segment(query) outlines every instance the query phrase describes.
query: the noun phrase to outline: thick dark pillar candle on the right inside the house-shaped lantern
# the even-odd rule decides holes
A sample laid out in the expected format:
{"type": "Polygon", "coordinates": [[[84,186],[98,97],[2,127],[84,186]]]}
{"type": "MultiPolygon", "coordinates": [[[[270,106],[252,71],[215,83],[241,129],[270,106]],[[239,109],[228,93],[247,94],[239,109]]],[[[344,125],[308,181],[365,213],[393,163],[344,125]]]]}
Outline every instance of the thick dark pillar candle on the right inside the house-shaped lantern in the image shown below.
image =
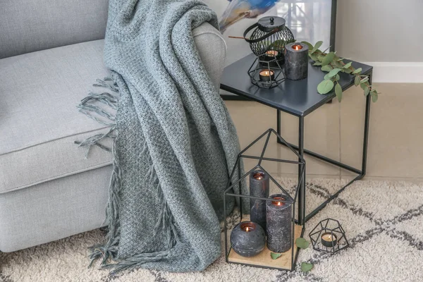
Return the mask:
{"type": "MultiPolygon", "coordinates": [[[[286,195],[271,195],[274,200],[286,200],[286,195]]],[[[286,252],[291,247],[293,209],[290,203],[266,201],[267,248],[271,252],[286,252]]]]}

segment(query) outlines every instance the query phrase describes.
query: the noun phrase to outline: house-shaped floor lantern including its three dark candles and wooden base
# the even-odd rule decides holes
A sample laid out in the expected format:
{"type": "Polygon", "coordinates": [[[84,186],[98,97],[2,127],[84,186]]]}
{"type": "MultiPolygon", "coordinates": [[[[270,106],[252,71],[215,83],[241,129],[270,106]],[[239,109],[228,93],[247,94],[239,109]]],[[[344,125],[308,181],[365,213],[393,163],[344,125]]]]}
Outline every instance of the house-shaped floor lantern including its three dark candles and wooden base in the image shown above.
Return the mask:
{"type": "Polygon", "coordinates": [[[228,185],[223,192],[226,262],[293,271],[299,251],[295,240],[302,237],[305,231],[304,219],[300,220],[302,225],[295,219],[295,206],[298,204],[298,191],[304,184],[304,173],[304,159],[273,129],[266,130],[238,154],[228,185]],[[276,135],[277,140],[285,144],[288,153],[298,161],[266,157],[269,142],[274,140],[272,135],[276,135]],[[264,145],[260,145],[261,141],[264,141],[264,145]],[[248,153],[252,147],[257,146],[263,146],[259,147],[259,156],[248,153]],[[257,161],[257,164],[251,164],[251,161],[257,161]],[[245,169],[246,173],[243,170],[244,162],[249,162],[252,166],[248,171],[245,169]],[[269,173],[271,168],[266,169],[275,164],[298,166],[298,178],[289,178],[286,180],[288,182],[275,179],[272,173],[269,173]],[[240,191],[239,194],[233,192],[234,190],[240,191]],[[233,202],[233,199],[228,199],[230,197],[238,200],[240,217],[239,221],[231,220],[231,223],[228,223],[226,205],[233,202]],[[266,235],[264,247],[264,233],[250,233],[255,232],[256,228],[260,232],[264,231],[266,235]],[[249,242],[247,238],[255,239],[249,242]],[[239,250],[239,246],[242,246],[243,250],[239,250]],[[278,258],[274,259],[272,253],[276,253],[278,258]]]}

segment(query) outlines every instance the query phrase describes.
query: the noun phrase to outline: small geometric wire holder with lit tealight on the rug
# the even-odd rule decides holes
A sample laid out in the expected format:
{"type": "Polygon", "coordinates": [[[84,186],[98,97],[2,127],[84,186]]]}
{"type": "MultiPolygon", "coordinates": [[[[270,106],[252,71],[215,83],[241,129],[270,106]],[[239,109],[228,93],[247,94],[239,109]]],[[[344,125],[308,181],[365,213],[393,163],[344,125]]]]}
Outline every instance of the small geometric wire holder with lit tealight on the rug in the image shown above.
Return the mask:
{"type": "Polygon", "coordinates": [[[345,249],[350,244],[345,237],[341,223],[336,219],[324,219],[309,233],[313,249],[319,252],[334,254],[345,249]]]}

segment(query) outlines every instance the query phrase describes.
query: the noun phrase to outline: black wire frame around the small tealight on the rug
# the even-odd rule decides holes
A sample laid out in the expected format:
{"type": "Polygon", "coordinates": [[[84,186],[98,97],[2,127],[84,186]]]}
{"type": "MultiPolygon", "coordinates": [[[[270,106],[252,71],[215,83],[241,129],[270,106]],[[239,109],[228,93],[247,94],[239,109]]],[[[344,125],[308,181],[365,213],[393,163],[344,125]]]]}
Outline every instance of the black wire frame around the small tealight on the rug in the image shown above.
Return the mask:
{"type": "Polygon", "coordinates": [[[345,236],[345,231],[341,226],[341,223],[337,221],[336,219],[324,219],[317,223],[317,226],[315,226],[312,231],[309,233],[310,241],[312,241],[312,246],[314,250],[317,250],[319,252],[329,252],[331,254],[334,254],[336,252],[339,252],[340,250],[343,250],[350,246],[350,243],[348,243],[348,240],[345,236]],[[328,227],[329,222],[335,222],[336,227],[328,227]],[[320,226],[320,228],[319,228],[320,226]],[[317,229],[317,231],[315,231],[317,229]],[[319,243],[319,239],[321,239],[321,233],[330,231],[332,235],[336,235],[336,245],[332,245],[332,247],[326,247],[319,243]]]}

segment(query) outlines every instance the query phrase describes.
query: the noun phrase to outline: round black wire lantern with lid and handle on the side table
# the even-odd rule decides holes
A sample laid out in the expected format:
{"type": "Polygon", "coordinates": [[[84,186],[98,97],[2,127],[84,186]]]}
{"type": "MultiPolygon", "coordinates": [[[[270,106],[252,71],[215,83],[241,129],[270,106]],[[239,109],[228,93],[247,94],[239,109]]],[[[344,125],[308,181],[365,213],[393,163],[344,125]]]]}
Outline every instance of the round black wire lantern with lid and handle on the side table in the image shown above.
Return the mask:
{"type": "Polygon", "coordinates": [[[285,45],[295,42],[293,32],[285,25],[285,19],[277,16],[260,18],[244,32],[245,41],[260,60],[271,61],[271,66],[281,65],[285,59],[285,45]],[[250,37],[247,34],[252,31],[250,37]],[[276,58],[276,61],[274,60],[276,58]]]}

